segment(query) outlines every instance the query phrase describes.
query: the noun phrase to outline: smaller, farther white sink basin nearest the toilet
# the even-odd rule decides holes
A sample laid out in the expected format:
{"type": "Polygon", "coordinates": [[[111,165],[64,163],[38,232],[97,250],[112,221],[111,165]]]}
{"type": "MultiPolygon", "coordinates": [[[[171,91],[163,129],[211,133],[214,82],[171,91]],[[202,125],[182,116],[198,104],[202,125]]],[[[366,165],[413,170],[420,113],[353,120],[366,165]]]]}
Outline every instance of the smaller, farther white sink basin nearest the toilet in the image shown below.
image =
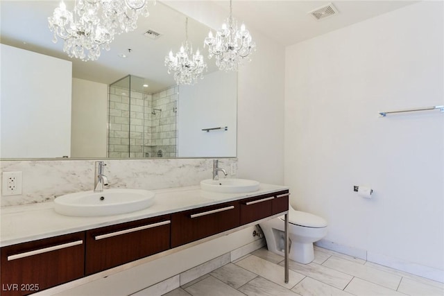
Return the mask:
{"type": "Polygon", "coordinates": [[[246,179],[207,179],[200,181],[200,189],[218,193],[244,193],[259,190],[259,182],[246,179]]]}

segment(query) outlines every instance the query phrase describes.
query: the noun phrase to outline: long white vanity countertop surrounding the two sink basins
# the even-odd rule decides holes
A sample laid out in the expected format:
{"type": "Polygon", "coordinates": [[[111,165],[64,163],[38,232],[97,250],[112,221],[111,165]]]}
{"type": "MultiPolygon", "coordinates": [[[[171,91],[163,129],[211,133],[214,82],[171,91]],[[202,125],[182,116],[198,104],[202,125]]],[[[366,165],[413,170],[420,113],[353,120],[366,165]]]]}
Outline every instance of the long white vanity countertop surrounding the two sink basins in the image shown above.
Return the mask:
{"type": "Polygon", "coordinates": [[[288,189],[287,186],[271,184],[260,184],[258,191],[249,193],[212,193],[200,190],[199,186],[159,189],[153,190],[155,202],[147,209],[100,217],[63,216],[54,211],[53,202],[3,207],[0,217],[0,245],[4,247],[35,241],[288,189]]]}

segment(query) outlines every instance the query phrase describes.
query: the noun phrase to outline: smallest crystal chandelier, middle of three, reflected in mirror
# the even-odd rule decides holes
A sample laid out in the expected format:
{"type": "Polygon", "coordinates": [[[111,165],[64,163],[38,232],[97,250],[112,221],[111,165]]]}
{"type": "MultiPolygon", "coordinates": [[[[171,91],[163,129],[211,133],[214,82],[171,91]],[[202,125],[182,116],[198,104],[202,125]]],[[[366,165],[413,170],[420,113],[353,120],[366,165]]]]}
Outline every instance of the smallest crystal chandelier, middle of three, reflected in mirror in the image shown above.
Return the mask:
{"type": "Polygon", "coordinates": [[[188,18],[185,21],[185,42],[176,55],[173,55],[173,51],[169,52],[165,57],[165,66],[168,67],[169,74],[173,72],[178,85],[194,85],[198,78],[203,79],[203,71],[207,69],[207,64],[199,50],[193,54],[193,46],[188,42],[188,18]]]}

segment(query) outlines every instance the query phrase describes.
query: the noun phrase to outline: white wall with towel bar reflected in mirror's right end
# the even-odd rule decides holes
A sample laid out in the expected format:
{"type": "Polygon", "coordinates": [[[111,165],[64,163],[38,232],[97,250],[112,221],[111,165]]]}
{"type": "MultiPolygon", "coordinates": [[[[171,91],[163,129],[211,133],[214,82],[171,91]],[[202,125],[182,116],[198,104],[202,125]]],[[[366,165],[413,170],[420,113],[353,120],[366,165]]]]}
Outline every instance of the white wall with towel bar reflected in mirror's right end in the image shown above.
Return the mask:
{"type": "Polygon", "coordinates": [[[196,85],[180,86],[179,157],[235,157],[237,73],[216,71],[196,85]],[[203,128],[227,127],[205,132],[203,128]]]}

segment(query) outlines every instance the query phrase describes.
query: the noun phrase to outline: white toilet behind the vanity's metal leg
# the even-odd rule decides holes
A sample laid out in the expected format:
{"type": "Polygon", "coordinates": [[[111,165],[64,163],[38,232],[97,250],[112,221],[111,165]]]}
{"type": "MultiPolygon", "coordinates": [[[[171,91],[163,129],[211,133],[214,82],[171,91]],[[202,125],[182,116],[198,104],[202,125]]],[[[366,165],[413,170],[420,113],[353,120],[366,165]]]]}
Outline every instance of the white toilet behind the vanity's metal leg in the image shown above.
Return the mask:
{"type": "MultiPolygon", "coordinates": [[[[270,252],[284,256],[284,216],[259,223],[270,252]]],[[[313,243],[327,234],[327,221],[289,207],[289,259],[310,263],[314,259],[313,243]]]]}

